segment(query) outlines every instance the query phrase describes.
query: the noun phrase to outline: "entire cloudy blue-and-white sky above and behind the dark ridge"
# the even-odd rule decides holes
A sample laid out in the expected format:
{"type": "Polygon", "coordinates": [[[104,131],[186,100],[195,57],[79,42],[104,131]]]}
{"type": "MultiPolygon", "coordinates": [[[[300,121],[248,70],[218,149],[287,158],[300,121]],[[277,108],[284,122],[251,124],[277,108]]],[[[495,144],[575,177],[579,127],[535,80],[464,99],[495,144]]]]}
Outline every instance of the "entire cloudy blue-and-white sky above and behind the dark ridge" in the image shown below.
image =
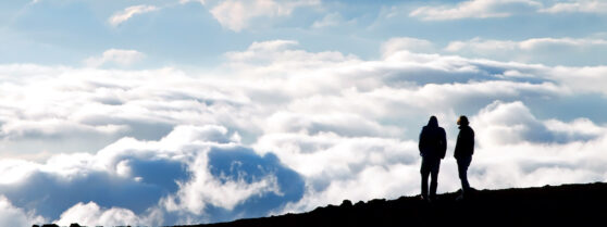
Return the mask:
{"type": "Polygon", "coordinates": [[[226,222],[607,180],[605,0],[0,2],[0,225],[226,222]]]}

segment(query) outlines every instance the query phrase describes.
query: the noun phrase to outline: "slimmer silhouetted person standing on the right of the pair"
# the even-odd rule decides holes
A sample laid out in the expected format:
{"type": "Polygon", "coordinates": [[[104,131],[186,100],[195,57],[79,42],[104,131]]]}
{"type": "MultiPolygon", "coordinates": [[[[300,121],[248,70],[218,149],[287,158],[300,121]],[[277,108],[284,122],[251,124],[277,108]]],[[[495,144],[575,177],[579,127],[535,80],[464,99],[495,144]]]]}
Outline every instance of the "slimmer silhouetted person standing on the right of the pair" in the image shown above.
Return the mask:
{"type": "Polygon", "coordinates": [[[474,130],[469,126],[468,117],[463,115],[459,116],[457,124],[459,125],[459,134],[457,135],[454,156],[457,160],[457,171],[461,180],[462,193],[458,199],[463,199],[467,193],[470,193],[468,167],[472,162],[472,154],[474,154],[474,130]]]}

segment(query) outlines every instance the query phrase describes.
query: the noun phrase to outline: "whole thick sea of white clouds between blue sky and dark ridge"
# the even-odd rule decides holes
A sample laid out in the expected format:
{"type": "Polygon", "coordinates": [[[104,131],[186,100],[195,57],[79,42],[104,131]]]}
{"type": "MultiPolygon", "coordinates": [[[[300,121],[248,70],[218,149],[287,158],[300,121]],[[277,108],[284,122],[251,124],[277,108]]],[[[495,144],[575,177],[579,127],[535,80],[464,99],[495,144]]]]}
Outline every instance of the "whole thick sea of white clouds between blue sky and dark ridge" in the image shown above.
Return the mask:
{"type": "Polygon", "coordinates": [[[589,114],[605,66],[434,47],[395,38],[362,60],[259,41],[207,73],[0,65],[0,210],[18,217],[0,220],[196,224],[413,196],[430,115],[448,135],[442,192],[459,187],[460,114],[476,188],[607,180],[607,118],[589,114]]]}

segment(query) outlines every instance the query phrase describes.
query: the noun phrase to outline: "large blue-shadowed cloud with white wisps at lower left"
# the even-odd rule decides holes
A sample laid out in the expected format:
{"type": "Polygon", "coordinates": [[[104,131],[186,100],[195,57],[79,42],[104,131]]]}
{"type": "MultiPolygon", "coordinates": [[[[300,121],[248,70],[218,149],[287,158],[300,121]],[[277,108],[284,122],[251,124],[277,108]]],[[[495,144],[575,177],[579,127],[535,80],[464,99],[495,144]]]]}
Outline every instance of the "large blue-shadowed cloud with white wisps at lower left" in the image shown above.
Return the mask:
{"type": "MultiPolygon", "coordinates": [[[[250,198],[255,203],[276,194],[286,203],[300,197],[297,173],[230,137],[221,126],[178,126],[158,141],[123,138],[96,154],[59,154],[45,164],[2,160],[0,171],[8,179],[0,194],[18,199],[21,206],[34,205],[60,225],[89,226],[174,225],[166,220],[174,215],[189,224],[219,222],[268,212],[239,207],[250,198]],[[218,212],[221,217],[214,216],[218,212]]],[[[22,212],[4,203],[0,200],[0,209],[10,214],[22,212]]],[[[35,213],[24,214],[30,218],[35,213]]],[[[12,222],[2,215],[0,220],[12,222]]]]}

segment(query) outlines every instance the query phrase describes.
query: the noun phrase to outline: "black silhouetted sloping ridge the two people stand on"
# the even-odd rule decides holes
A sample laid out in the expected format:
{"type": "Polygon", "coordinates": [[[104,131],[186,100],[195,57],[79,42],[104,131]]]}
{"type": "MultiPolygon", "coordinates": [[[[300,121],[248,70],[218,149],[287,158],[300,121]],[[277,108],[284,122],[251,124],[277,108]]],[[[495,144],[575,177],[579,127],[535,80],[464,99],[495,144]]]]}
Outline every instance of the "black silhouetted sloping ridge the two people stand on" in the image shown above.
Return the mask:
{"type": "Polygon", "coordinates": [[[607,184],[544,186],[439,194],[428,203],[419,197],[376,199],[318,207],[308,213],[175,227],[289,226],[605,226],[607,184]]]}

